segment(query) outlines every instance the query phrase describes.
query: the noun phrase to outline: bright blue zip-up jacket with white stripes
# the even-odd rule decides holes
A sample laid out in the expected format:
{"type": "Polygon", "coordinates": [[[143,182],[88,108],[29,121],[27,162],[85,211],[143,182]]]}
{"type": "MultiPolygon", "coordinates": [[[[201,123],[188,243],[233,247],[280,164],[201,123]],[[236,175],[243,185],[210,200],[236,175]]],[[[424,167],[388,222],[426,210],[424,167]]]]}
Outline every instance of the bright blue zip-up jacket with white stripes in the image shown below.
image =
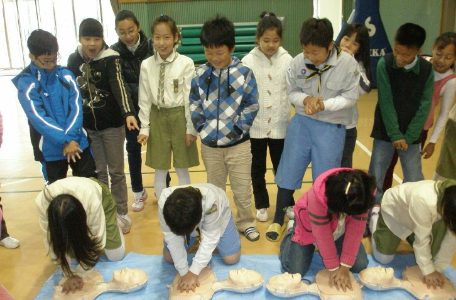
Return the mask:
{"type": "Polygon", "coordinates": [[[40,150],[46,161],[66,159],[64,146],[75,141],[82,150],[89,146],[82,129],[82,98],[73,74],[56,66],[51,72],[31,62],[13,78],[19,102],[40,134],[40,150]]]}

